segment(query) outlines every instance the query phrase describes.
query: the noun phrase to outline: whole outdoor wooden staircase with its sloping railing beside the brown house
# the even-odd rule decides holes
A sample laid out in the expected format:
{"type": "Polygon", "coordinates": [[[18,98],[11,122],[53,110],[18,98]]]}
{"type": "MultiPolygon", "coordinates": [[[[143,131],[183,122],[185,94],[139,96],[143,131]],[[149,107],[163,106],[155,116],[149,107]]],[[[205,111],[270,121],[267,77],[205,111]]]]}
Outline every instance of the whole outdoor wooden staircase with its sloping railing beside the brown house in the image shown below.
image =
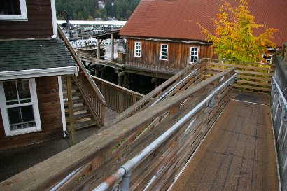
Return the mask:
{"type": "MultiPolygon", "coordinates": [[[[62,39],[64,45],[69,50],[71,57],[77,64],[77,73],[76,75],[68,76],[68,80],[71,79],[71,99],[73,100],[68,104],[68,95],[67,95],[67,85],[66,77],[62,78],[62,87],[63,87],[63,97],[64,105],[66,112],[66,124],[67,129],[72,132],[72,142],[76,144],[76,134],[74,134],[74,129],[83,129],[85,127],[103,127],[104,126],[104,111],[106,100],[102,95],[102,92],[99,91],[99,88],[92,80],[89,73],[85,69],[84,64],[80,61],[75,50],[71,47],[68,39],[64,35],[62,29],[57,24],[59,38],[62,39]],[[69,111],[68,106],[73,105],[73,111],[69,111]],[[69,113],[73,113],[73,125],[70,128],[70,118],[69,113]],[[75,127],[75,128],[73,128],[75,127]]],[[[70,89],[70,88],[69,88],[70,89]]],[[[69,91],[69,92],[70,92],[69,91]]]]}

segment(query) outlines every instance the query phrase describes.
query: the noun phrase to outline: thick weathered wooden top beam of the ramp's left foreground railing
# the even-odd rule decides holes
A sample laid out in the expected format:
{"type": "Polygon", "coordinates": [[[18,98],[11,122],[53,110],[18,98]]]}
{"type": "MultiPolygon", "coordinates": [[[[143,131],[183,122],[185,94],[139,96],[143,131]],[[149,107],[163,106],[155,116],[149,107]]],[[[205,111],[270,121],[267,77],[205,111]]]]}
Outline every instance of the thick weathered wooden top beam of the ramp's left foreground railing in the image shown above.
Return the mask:
{"type": "MultiPolygon", "coordinates": [[[[132,118],[118,122],[104,131],[93,134],[76,146],[50,157],[34,167],[31,167],[20,174],[17,174],[6,181],[0,183],[0,190],[46,190],[72,171],[91,162],[99,156],[103,156],[106,149],[111,148],[115,143],[137,131],[143,125],[149,124],[154,118],[162,113],[177,107],[184,100],[195,94],[208,85],[218,82],[223,76],[230,76],[234,68],[223,71],[216,76],[211,76],[207,80],[190,87],[188,90],[180,92],[160,101],[153,107],[134,114],[132,118]]],[[[127,160],[127,159],[125,159],[127,160]]]]}

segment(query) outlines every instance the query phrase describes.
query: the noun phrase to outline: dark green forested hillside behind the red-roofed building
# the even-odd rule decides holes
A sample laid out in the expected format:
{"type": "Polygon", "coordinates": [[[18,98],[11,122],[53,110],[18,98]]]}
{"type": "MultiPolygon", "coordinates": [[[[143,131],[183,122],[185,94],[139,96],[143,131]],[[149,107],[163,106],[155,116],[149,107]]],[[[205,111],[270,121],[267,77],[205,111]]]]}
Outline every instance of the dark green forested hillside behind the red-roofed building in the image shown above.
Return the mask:
{"type": "Polygon", "coordinates": [[[56,0],[57,12],[66,10],[70,20],[94,20],[116,17],[117,20],[127,20],[140,0],[56,0]]]}

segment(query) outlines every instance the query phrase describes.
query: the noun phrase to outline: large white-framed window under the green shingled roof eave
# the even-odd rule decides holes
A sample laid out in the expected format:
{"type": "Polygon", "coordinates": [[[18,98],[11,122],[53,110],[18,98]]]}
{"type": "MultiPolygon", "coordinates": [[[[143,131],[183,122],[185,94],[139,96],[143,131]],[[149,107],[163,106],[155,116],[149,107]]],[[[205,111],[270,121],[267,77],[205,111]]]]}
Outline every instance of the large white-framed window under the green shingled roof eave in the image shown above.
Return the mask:
{"type": "Polygon", "coordinates": [[[6,136],[41,130],[35,79],[0,82],[0,107],[6,136]]]}

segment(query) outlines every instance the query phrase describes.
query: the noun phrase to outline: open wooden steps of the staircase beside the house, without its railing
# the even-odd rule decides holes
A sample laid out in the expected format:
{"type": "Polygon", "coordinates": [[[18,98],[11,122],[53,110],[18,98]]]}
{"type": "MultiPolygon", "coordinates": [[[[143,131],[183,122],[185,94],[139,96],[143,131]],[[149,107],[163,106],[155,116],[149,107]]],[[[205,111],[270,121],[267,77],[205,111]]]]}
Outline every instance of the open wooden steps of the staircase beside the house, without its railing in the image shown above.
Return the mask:
{"type": "MultiPolygon", "coordinates": [[[[68,95],[66,90],[66,77],[62,77],[62,87],[63,87],[63,97],[64,97],[64,108],[66,116],[66,127],[69,129],[70,118],[69,118],[69,104],[68,104],[68,95]]],[[[89,110],[89,107],[85,103],[80,90],[76,83],[72,80],[72,97],[73,97],[73,118],[75,129],[84,129],[88,127],[97,127],[97,121],[93,118],[92,113],[89,110]]]]}

